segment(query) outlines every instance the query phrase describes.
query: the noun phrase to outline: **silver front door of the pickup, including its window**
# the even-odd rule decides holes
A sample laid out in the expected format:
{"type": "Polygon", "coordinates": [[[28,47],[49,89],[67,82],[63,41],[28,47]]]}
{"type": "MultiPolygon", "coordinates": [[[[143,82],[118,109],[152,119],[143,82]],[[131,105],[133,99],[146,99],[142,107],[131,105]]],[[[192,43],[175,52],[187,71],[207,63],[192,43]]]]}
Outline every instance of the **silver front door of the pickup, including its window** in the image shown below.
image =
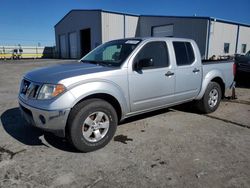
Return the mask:
{"type": "Polygon", "coordinates": [[[147,110],[171,103],[174,98],[175,75],[169,61],[165,41],[146,43],[133,59],[152,59],[153,66],[129,73],[129,95],[132,112],[147,110]]]}

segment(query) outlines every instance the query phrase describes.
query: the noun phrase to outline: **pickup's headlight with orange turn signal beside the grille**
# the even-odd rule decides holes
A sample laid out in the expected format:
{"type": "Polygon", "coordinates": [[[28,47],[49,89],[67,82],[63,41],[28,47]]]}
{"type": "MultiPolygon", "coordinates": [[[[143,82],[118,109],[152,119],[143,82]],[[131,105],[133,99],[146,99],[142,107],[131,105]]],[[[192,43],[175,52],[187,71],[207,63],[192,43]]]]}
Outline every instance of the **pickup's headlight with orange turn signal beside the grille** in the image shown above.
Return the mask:
{"type": "Polygon", "coordinates": [[[65,87],[62,84],[44,84],[38,94],[38,99],[52,99],[64,91],[65,87]]]}

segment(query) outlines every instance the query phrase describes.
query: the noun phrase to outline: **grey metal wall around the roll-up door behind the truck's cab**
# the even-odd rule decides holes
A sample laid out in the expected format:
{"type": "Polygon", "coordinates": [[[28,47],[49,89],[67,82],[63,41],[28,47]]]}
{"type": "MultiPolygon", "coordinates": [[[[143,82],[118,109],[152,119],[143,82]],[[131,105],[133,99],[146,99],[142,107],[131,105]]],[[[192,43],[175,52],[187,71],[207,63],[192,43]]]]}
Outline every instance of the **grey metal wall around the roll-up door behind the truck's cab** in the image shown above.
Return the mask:
{"type": "Polygon", "coordinates": [[[151,36],[152,27],[173,24],[173,37],[190,38],[196,41],[201,56],[206,56],[207,20],[191,18],[172,18],[157,16],[141,16],[138,36],[151,36]]]}

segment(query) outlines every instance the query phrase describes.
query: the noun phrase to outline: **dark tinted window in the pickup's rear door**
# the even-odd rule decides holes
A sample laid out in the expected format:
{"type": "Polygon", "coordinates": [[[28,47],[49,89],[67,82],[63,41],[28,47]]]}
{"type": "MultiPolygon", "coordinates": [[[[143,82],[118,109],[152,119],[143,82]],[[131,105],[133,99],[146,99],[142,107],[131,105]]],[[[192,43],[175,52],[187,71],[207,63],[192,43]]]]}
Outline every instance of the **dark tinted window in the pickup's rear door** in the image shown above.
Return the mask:
{"type": "Polygon", "coordinates": [[[173,46],[178,66],[191,65],[194,62],[194,50],[189,42],[173,42],[173,46]]]}

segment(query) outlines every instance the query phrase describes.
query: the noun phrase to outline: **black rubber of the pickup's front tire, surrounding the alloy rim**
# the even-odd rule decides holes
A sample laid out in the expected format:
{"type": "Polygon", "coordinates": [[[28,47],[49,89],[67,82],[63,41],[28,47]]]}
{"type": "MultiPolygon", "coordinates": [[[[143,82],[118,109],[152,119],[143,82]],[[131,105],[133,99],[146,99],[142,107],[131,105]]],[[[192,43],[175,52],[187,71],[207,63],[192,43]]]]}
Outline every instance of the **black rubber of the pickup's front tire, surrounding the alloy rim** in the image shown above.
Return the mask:
{"type": "Polygon", "coordinates": [[[70,127],[70,137],[76,149],[89,152],[104,147],[114,136],[117,127],[117,116],[114,108],[103,100],[93,100],[79,109],[70,127]],[[87,141],[82,134],[82,125],[85,119],[94,112],[104,112],[109,118],[109,129],[106,135],[98,142],[87,141]]]}

